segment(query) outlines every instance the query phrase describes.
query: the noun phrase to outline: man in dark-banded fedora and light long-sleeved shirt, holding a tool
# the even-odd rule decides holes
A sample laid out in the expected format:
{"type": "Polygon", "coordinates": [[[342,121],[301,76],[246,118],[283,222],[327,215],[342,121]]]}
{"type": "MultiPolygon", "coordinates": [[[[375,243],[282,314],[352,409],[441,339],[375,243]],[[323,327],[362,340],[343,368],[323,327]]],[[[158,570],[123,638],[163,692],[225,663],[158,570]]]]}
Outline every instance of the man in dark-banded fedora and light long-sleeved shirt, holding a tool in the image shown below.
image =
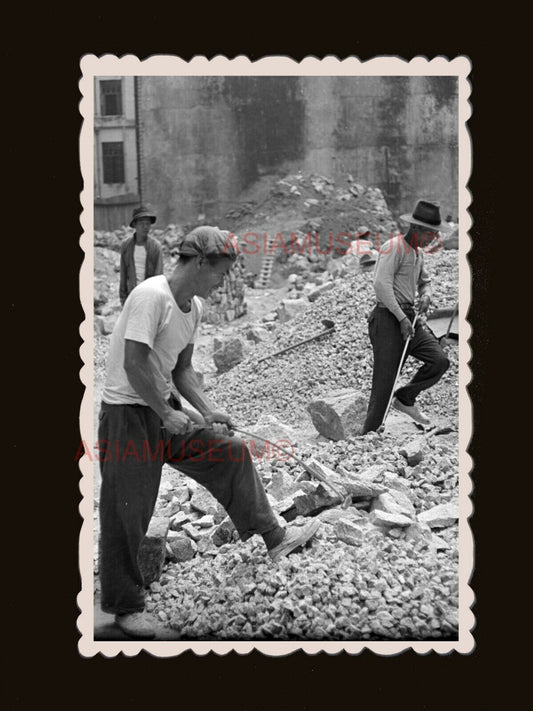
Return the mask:
{"type": "Polygon", "coordinates": [[[425,324],[417,320],[415,328],[412,325],[417,292],[418,314],[426,313],[431,302],[424,252],[438,248],[439,231],[447,230],[448,225],[441,221],[438,203],[428,200],[419,200],[413,213],[400,219],[409,223],[409,229],[380,247],[374,272],[377,303],[368,318],[374,371],[361,434],[376,431],[383,423],[408,338],[406,357],[413,356],[423,365],[407,385],[395,391],[392,407],[415,422],[429,424],[429,418],[417,407],[416,398],[435,385],[449,366],[446,354],[425,324]]]}

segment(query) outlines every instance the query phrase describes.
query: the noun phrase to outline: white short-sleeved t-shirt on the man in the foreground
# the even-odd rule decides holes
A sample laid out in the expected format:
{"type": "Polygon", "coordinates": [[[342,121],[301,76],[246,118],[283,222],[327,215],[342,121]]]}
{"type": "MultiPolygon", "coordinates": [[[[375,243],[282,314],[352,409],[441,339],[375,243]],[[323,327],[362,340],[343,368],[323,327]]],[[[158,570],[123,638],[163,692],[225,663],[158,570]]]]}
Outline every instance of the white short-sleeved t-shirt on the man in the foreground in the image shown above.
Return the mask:
{"type": "Polygon", "coordinates": [[[163,274],[141,282],[129,295],[109,342],[107,378],[102,399],[109,405],[146,405],[132,388],[124,370],[125,340],[146,343],[151,351],[149,364],[157,390],[166,399],[172,388],[172,371],[178,356],[194,343],[202,302],[195,296],[189,313],[177,305],[163,274]]]}

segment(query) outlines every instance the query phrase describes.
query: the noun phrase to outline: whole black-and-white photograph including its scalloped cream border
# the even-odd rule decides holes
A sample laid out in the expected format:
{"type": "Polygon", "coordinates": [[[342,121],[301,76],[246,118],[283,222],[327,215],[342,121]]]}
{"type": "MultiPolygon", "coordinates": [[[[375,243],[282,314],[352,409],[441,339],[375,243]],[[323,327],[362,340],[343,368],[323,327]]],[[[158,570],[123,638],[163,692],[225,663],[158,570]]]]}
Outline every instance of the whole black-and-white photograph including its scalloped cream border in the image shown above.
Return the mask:
{"type": "Polygon", "coordinates": [[[468,58],[80,67],[80,653],[469,653],[468,58]]]}

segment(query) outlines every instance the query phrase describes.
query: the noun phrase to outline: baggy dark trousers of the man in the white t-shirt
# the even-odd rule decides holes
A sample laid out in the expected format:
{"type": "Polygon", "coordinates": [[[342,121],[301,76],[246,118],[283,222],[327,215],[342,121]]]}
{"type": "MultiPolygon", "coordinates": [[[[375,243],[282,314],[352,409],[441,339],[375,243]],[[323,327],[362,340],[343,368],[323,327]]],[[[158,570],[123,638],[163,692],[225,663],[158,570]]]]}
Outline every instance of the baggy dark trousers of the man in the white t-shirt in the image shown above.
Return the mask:
{"type": "Polygon", "coordinates": [[[149,407],[102,403],[98,428],[100,582],[102,610],[144,609],[137,556],[154,511],[167,462],[200,483],[222,504],[242,540],[267,533],[277,520],[245,443],[209,429],[165,436],[149,407]]]}

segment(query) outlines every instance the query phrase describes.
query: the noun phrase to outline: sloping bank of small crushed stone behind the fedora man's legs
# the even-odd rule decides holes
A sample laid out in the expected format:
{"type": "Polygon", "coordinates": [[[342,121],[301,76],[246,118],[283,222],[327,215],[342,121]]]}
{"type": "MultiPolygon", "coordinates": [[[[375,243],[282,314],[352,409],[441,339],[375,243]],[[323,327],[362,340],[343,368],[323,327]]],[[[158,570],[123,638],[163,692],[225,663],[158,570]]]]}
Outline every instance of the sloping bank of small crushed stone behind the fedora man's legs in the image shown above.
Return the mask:
{"type": "MultiPolygon", "coordinates": [[[[432,309],[453,307],[458,295],[457,252],[440,251],[426,257],[432,276],[432,309]]],[[[372,348],[367,317],[375,298],[372,273],[351,273],[309,302],[304,311],[286,323],[264,322],[272,330],[250,355],[220,377],[214,396],[243,426],[255,423],[265,412],[285,422],[309,419],[305,406],[332,390],[355,388],[368,396],[372,379],[372,348]],[[335,322],[335,331],[318,341],[269,358],[258,359],[309,338],[321,330],[322,319],[335,322]]],[[[268,315],[265,318],[269,318],[268,315]]],[[[457,415],[457,348],[448,352],[451,364],[442,380],[420,396],[421,406],[434,413],[457,415]],[[446,397],[443,397],[446,392],[446,397]]],[[[419,367],[408,359],[402,379],[419,367]]]]}

